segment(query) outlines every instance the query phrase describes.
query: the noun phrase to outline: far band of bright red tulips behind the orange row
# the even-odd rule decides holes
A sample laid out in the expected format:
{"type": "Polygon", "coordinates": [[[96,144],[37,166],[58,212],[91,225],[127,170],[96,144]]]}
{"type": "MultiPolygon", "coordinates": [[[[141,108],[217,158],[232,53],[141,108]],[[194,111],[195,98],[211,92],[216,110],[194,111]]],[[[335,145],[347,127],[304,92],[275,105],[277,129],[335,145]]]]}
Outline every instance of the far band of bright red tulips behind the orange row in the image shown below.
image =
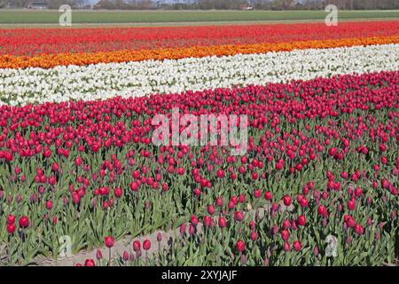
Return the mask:
{"type": "Polygon", "coordinates": [[[168,28],[0,29],[0,55],[152,50],[238,43],[286,43],[351,37],[395,36],[399,21],[234,25],[168,28]]]}

